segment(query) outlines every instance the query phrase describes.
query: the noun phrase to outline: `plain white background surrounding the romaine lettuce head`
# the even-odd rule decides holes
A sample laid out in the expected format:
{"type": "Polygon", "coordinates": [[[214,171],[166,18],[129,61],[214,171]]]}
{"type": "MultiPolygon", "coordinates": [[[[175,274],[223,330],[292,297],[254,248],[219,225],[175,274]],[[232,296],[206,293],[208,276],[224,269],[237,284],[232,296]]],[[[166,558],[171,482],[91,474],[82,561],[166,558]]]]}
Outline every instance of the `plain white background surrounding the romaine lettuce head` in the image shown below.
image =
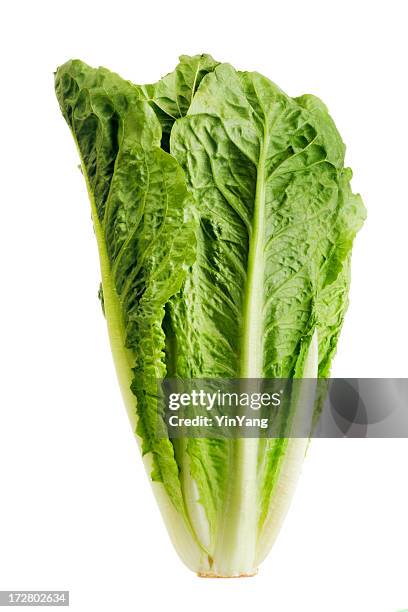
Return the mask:
{"type": "Polygon", "coordinates": [[[407,376],[406,2],[10,2],[1,9],[0,589],[79,612],[408,608],[408,443],[312,443],[256,578],[174,553],[115,383],[85,186],[53,93],[72,57],[135,82],[180,53],[317,94],[368,220],[333,374],[407,376]]]}

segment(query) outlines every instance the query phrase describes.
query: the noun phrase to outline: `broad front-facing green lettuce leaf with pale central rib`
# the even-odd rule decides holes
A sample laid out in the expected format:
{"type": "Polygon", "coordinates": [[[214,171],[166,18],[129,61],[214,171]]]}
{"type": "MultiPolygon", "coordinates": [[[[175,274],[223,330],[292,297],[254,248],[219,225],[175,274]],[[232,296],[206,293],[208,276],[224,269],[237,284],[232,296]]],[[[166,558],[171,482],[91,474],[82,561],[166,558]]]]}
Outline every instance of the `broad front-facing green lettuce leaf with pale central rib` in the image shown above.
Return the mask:
{"type": "MultiPolygon", "coordinates": [[[[171,300],[177,375],[303,376],[316,330],[320,371],[327,373],[364,213],[323,105],[220,65],[173,127],[170,150],[194,198],[197,244],[193,270],[171,300]]],[[[215,562],[223,541],[228,571],[245,572],[238,554],[257,555],[287,445],[186,443],[215,562]]]]}

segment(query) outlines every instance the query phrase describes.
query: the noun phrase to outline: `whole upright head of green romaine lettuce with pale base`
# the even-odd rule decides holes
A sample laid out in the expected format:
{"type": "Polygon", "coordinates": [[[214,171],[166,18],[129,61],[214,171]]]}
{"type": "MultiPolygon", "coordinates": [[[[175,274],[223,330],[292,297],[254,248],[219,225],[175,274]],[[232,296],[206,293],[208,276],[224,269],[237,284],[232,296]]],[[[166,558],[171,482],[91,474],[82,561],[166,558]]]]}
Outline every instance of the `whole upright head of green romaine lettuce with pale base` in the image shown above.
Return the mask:
{"type": "Polygon", "coordinates": [[[308,440],[170,439],[157,380],[328,376],[365,217],[342,139],[318,98],[209,55],[144,86],[73,60],[55,87],[119,383],[172,540],[201,575],[253,574],[308,440]]]}

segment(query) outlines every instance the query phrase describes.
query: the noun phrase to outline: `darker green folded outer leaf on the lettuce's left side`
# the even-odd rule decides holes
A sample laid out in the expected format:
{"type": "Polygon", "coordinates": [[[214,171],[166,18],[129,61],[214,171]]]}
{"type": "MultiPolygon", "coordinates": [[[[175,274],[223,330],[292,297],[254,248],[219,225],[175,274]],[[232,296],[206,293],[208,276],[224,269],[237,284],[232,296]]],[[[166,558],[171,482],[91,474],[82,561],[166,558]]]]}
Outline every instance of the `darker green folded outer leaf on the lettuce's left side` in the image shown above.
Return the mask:
{"type": "Polygon", "coordinates": [[[166,373],[164,306],[193,258],[183,173],[160,148],[149,104],[117,75],[68,62],[57,72],[56,92],[88,185],[104,309],[131,422],[137,411],[143,452],[153,454],[152,478],[184,514],[173,446],[157,435],[155,399],[156,379],[166,373]]]}

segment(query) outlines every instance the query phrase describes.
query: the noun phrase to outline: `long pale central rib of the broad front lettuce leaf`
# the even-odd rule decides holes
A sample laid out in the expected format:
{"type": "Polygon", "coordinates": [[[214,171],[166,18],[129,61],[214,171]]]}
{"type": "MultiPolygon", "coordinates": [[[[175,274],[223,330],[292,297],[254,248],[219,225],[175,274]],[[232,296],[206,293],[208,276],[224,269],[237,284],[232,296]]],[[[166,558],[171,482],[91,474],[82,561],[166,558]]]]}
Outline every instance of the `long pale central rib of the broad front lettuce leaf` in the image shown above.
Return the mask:
{"type": "MultiPolygon", "coordinates": [[[[260,151],[253,227],[249,241],[247,283],[243,311],[240,378],[262,378],[265,245],[265,165],[268,136],[260,151]]],[[[254,574],[258,536],[259,440],[231,441],[230,482],[221,527],[217,533],[214,573],[221,576],[254,574]]]]}

